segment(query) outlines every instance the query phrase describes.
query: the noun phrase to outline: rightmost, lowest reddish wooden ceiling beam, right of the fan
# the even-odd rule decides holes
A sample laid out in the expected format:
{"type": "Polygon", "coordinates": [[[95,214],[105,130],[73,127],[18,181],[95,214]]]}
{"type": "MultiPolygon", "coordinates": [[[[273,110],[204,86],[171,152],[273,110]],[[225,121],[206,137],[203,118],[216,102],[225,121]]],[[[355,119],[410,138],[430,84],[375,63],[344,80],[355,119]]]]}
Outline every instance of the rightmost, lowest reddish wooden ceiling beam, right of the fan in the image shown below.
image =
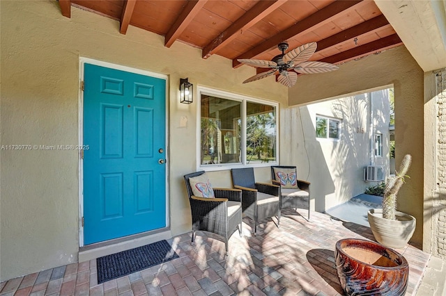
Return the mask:
{"type": "Polygon", "coordinates": [[[369,54],[376,54],[385,49],[390,49],[392,47],[398,47],[402,45],[403,42],[398,37],[397,34],[393,34],[387,36],[385,38],[378,39],[373,42],[369,42],[353,49],[348,49],[348,51],[342,51],[339,54],[334,54],[333,56],[328,56],[327,58],[323,58],[321,62],[332,63],[332,64],[340,64],[348,62],[348,60],[353,60],[356,58],[362,58],[363,56],[367,56],[369,54]]]}

